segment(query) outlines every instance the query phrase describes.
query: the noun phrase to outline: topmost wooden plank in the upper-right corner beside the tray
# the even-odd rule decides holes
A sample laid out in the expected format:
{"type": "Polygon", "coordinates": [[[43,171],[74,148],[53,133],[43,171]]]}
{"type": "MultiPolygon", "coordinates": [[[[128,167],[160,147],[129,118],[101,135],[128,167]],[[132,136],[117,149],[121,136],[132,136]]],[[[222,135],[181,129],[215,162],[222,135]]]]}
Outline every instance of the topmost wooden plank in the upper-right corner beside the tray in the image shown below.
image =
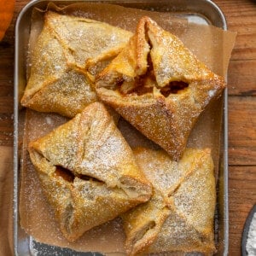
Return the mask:
{"type": "Polygon", "coordinates": [[[256,3],[241,0],[214,0],[224,12],[228,28],[237,32],[232,60],[256,59],[256,3]]]}

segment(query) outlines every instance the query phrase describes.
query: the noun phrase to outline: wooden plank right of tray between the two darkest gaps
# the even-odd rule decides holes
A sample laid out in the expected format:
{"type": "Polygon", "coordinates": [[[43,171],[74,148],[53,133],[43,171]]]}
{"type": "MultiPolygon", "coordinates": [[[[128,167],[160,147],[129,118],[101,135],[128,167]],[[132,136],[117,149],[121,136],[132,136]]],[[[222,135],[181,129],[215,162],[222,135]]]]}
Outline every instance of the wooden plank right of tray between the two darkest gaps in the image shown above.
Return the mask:
{"type": "Polygon", "coordinates": [[[229,98],[229,163],[256,165],[256,99],[229,98]]]}

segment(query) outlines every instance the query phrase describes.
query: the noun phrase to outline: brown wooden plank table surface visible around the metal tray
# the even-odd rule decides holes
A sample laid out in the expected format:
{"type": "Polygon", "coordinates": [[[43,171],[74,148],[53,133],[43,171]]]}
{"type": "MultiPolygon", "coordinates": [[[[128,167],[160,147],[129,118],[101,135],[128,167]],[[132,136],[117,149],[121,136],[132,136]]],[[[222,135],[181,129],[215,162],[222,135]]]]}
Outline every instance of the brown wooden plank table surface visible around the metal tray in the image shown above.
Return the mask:
{"type": "MultiPolygon", "coordinates": [[[[0,146],[13,145],[14,28],[20,9],[0,43],[0,146]]],[[[216,0],[230,31],[237,32],[229,68],[230,255],[241,253],[247,213],[256,203],[256,3],[216,0]]],[[[1,156],[0,156],[1,157],[1,156]]]]}

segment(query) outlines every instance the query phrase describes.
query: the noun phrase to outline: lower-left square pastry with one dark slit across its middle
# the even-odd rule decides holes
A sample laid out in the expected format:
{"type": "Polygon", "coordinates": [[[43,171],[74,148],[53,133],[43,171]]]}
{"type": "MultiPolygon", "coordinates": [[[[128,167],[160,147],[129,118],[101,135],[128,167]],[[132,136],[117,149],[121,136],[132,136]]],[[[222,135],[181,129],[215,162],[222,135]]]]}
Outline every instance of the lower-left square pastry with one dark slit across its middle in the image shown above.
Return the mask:
{"type": "Polygon", "coordinates": [[[68,241],[151,196],[151,184],[100,102],[29,143],[28,151],[68,241]]]}

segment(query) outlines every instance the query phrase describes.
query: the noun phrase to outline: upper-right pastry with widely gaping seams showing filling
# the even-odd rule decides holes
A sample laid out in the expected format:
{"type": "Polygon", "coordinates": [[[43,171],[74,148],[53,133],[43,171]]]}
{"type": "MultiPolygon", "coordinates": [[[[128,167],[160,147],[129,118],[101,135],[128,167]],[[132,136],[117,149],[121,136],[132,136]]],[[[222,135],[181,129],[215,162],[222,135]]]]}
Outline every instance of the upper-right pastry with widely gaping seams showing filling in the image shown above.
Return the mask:
{"type": "Polygon", "coordinates": [[[198,61],[180,39],[143,17],[125,49],[96,78],[96,92],[146,137],[178,160],[224,79],[198,61]]]}

